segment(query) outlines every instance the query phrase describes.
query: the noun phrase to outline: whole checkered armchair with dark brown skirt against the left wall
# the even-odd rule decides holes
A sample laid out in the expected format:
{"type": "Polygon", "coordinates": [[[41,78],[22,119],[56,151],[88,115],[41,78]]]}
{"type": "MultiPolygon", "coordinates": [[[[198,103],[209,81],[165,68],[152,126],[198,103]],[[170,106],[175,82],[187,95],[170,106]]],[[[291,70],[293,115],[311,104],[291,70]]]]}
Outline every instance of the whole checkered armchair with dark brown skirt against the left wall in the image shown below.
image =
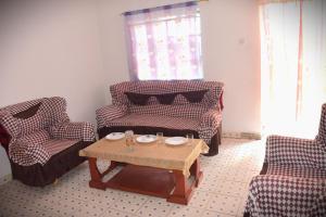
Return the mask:
{"type": "Polygon", "coordinates": [[[0,108],[0,142],[12,176],[46,186],[85,161],[78,151],[95,141],[93,126],[71,123],[63,98],[42,98],[0,108]]]}

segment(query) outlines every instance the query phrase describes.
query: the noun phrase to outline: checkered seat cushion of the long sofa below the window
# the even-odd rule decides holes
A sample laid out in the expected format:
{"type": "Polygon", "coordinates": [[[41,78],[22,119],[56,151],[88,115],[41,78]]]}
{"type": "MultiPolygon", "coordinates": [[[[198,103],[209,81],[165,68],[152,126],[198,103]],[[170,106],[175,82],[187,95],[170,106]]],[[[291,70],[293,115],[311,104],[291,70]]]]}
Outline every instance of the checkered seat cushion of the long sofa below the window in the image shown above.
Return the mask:
{"type": "Polygon", "coordinates": [[[198,128],[199,120],[185,117],[170,117],[159,115],[140,115],[129,114],[106,123],[108,127],[115,126],[145,126],[145,127],[162,127],[168,129],[190,129],[198,128]]]}

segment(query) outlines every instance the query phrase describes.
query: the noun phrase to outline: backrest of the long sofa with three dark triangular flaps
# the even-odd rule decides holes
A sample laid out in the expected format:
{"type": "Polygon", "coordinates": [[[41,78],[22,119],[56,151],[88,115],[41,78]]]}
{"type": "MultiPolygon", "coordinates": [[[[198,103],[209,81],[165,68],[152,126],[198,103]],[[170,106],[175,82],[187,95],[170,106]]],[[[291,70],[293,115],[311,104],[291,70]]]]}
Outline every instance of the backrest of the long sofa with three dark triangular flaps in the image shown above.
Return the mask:
{"type": "Polygon", "coordinates": [[[202,80],[124,81],[110,87],[112,104],[179,105],[191,104],[223,108],[224,84],[202,80]]]}

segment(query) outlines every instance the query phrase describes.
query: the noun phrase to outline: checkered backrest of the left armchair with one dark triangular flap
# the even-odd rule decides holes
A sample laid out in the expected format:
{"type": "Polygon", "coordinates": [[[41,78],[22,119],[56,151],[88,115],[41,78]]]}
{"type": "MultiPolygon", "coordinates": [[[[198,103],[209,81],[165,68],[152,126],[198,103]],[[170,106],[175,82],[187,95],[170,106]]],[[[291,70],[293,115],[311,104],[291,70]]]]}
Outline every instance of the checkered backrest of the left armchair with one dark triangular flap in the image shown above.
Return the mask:
{"type": "Polygon", "coordinates": [[[0,108],[0,141],[8,151],[10,140],[68,120],[65,99],[41,98],[0,108]],[[5,132],[8,135],[5,135],[5,132]]]}

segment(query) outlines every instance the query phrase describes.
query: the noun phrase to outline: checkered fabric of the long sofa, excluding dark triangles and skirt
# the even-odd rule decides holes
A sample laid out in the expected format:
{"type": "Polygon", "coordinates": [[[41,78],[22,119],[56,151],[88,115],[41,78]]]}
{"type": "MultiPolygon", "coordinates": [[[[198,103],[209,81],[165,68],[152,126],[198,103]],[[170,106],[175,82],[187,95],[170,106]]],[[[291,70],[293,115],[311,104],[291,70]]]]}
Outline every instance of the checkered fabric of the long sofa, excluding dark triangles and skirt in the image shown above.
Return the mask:
{"type": "Polygon", "coordinates": [[[110,126],[148,126],[189,129],[210,143],[222,123],[222,93],[217,81],[125,81],[110,87],[112,104],[97,111],[98,129],[110,126]],[[177,94],[171,104],[150,97],[145,105],[134,104],[125,92],[142,94],[179,93],[206,90],[200,102],[177,94]],[[153,122],[154,120],[154,122],[153,122]]]}

